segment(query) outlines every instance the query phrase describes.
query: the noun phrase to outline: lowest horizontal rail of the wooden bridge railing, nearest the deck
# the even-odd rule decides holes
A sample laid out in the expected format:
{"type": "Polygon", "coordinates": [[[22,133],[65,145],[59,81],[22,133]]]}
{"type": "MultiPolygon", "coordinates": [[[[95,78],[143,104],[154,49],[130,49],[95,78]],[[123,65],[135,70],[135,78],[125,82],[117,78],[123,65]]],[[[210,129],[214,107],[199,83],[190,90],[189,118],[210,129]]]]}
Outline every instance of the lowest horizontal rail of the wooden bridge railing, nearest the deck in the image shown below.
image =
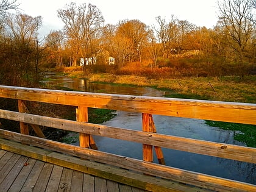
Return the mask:
{"type": "MultiPolygon", "coordinates": [[[[123,157],[121,155],[108,154],[106,152],[94,151],[91,149],[71,146],[57,141],[49,141],[43,138],[32,137],[20,133],[9,132],[0,129],[0,135],[9,140],[20,141],[44,149],[55,150],[65,154],[74,155],[84,159],[90,158],[96,162],[107,163],[108,165],[119,166],[135,171],[144,172],[152,176],[158,176],[165,179],[171,179],[177,182],[188,183],[197,187],[215,191],[255,191],[255,185],[249,183],[236,182],[234,180],[222,179],[220,177],[199,174],[193,171],[186,171],[179,168],[158,165],[151,162],[144,162],[134,158],[123,157]]],[[[0,140],[1,141],[1,140],[0,140]]],[[[8,148],[8,146],[7,146],[8,148]]],[[[2,149],[5,149],[2,146],[2,149]]]]}

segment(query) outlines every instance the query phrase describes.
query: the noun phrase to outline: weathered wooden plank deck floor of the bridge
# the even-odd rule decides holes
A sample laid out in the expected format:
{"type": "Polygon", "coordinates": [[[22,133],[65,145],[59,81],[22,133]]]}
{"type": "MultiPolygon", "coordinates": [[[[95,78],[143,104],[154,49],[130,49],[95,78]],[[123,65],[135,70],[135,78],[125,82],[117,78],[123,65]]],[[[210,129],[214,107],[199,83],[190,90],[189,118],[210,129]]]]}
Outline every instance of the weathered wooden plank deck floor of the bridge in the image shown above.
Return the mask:
{"type": "Polygon", "coordinates": [[[0,150],[0,191],[144,191],[0,150]]]}

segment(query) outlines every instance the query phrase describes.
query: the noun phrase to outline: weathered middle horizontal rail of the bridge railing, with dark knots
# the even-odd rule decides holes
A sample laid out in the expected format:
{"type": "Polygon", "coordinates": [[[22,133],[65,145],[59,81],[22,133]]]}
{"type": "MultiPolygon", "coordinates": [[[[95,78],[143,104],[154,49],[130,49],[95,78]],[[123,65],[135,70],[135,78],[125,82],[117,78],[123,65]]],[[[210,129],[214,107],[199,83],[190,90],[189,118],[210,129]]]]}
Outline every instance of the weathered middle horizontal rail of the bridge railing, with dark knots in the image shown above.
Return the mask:
{"type": "Polygon", "coordinates": [[[0,118],[119,140],[151,144],[153,146],[193,152],[196,154],[229,158],[241,162],[256,163],[256,148],[175,137],[158,133],[148,133],[138,130],[121,129],[118,127],[103,126],[99,124],[80,123],[66,119],[10,112],[7,110],[0,110],[0,118]]]}

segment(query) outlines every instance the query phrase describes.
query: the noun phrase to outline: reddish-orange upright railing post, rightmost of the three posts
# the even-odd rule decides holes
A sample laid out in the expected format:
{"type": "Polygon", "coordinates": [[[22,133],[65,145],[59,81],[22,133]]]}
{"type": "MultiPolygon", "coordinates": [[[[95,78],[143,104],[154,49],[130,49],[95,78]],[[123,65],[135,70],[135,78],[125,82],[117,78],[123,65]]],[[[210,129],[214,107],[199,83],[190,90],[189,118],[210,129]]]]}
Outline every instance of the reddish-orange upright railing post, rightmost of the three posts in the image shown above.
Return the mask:
{"type": "MultiPolygon", "coordinates": [[[[149,126],[149,114],[142,113],[142,130],[145,132],[152,132],[149,126]]],[[[143,144],[143,160],[146,162],[153,162],[153,146],[150,144],[143,144]]]]}

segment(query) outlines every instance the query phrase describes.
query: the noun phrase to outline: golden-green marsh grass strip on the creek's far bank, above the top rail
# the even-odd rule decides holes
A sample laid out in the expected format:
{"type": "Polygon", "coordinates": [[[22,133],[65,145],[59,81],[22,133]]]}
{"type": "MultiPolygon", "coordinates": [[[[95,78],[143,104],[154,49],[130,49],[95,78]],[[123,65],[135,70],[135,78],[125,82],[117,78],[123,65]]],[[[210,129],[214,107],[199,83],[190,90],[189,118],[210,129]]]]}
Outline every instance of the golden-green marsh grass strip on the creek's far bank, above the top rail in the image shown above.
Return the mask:
{"type": "Polygon", "coordinates": [[[114,84],[137,85],[170,91],[169,97],[256,103],[256,76],[182,77],[179,79],[147,79],[141,76],[91,74],[89,80],[114,84]]]}

